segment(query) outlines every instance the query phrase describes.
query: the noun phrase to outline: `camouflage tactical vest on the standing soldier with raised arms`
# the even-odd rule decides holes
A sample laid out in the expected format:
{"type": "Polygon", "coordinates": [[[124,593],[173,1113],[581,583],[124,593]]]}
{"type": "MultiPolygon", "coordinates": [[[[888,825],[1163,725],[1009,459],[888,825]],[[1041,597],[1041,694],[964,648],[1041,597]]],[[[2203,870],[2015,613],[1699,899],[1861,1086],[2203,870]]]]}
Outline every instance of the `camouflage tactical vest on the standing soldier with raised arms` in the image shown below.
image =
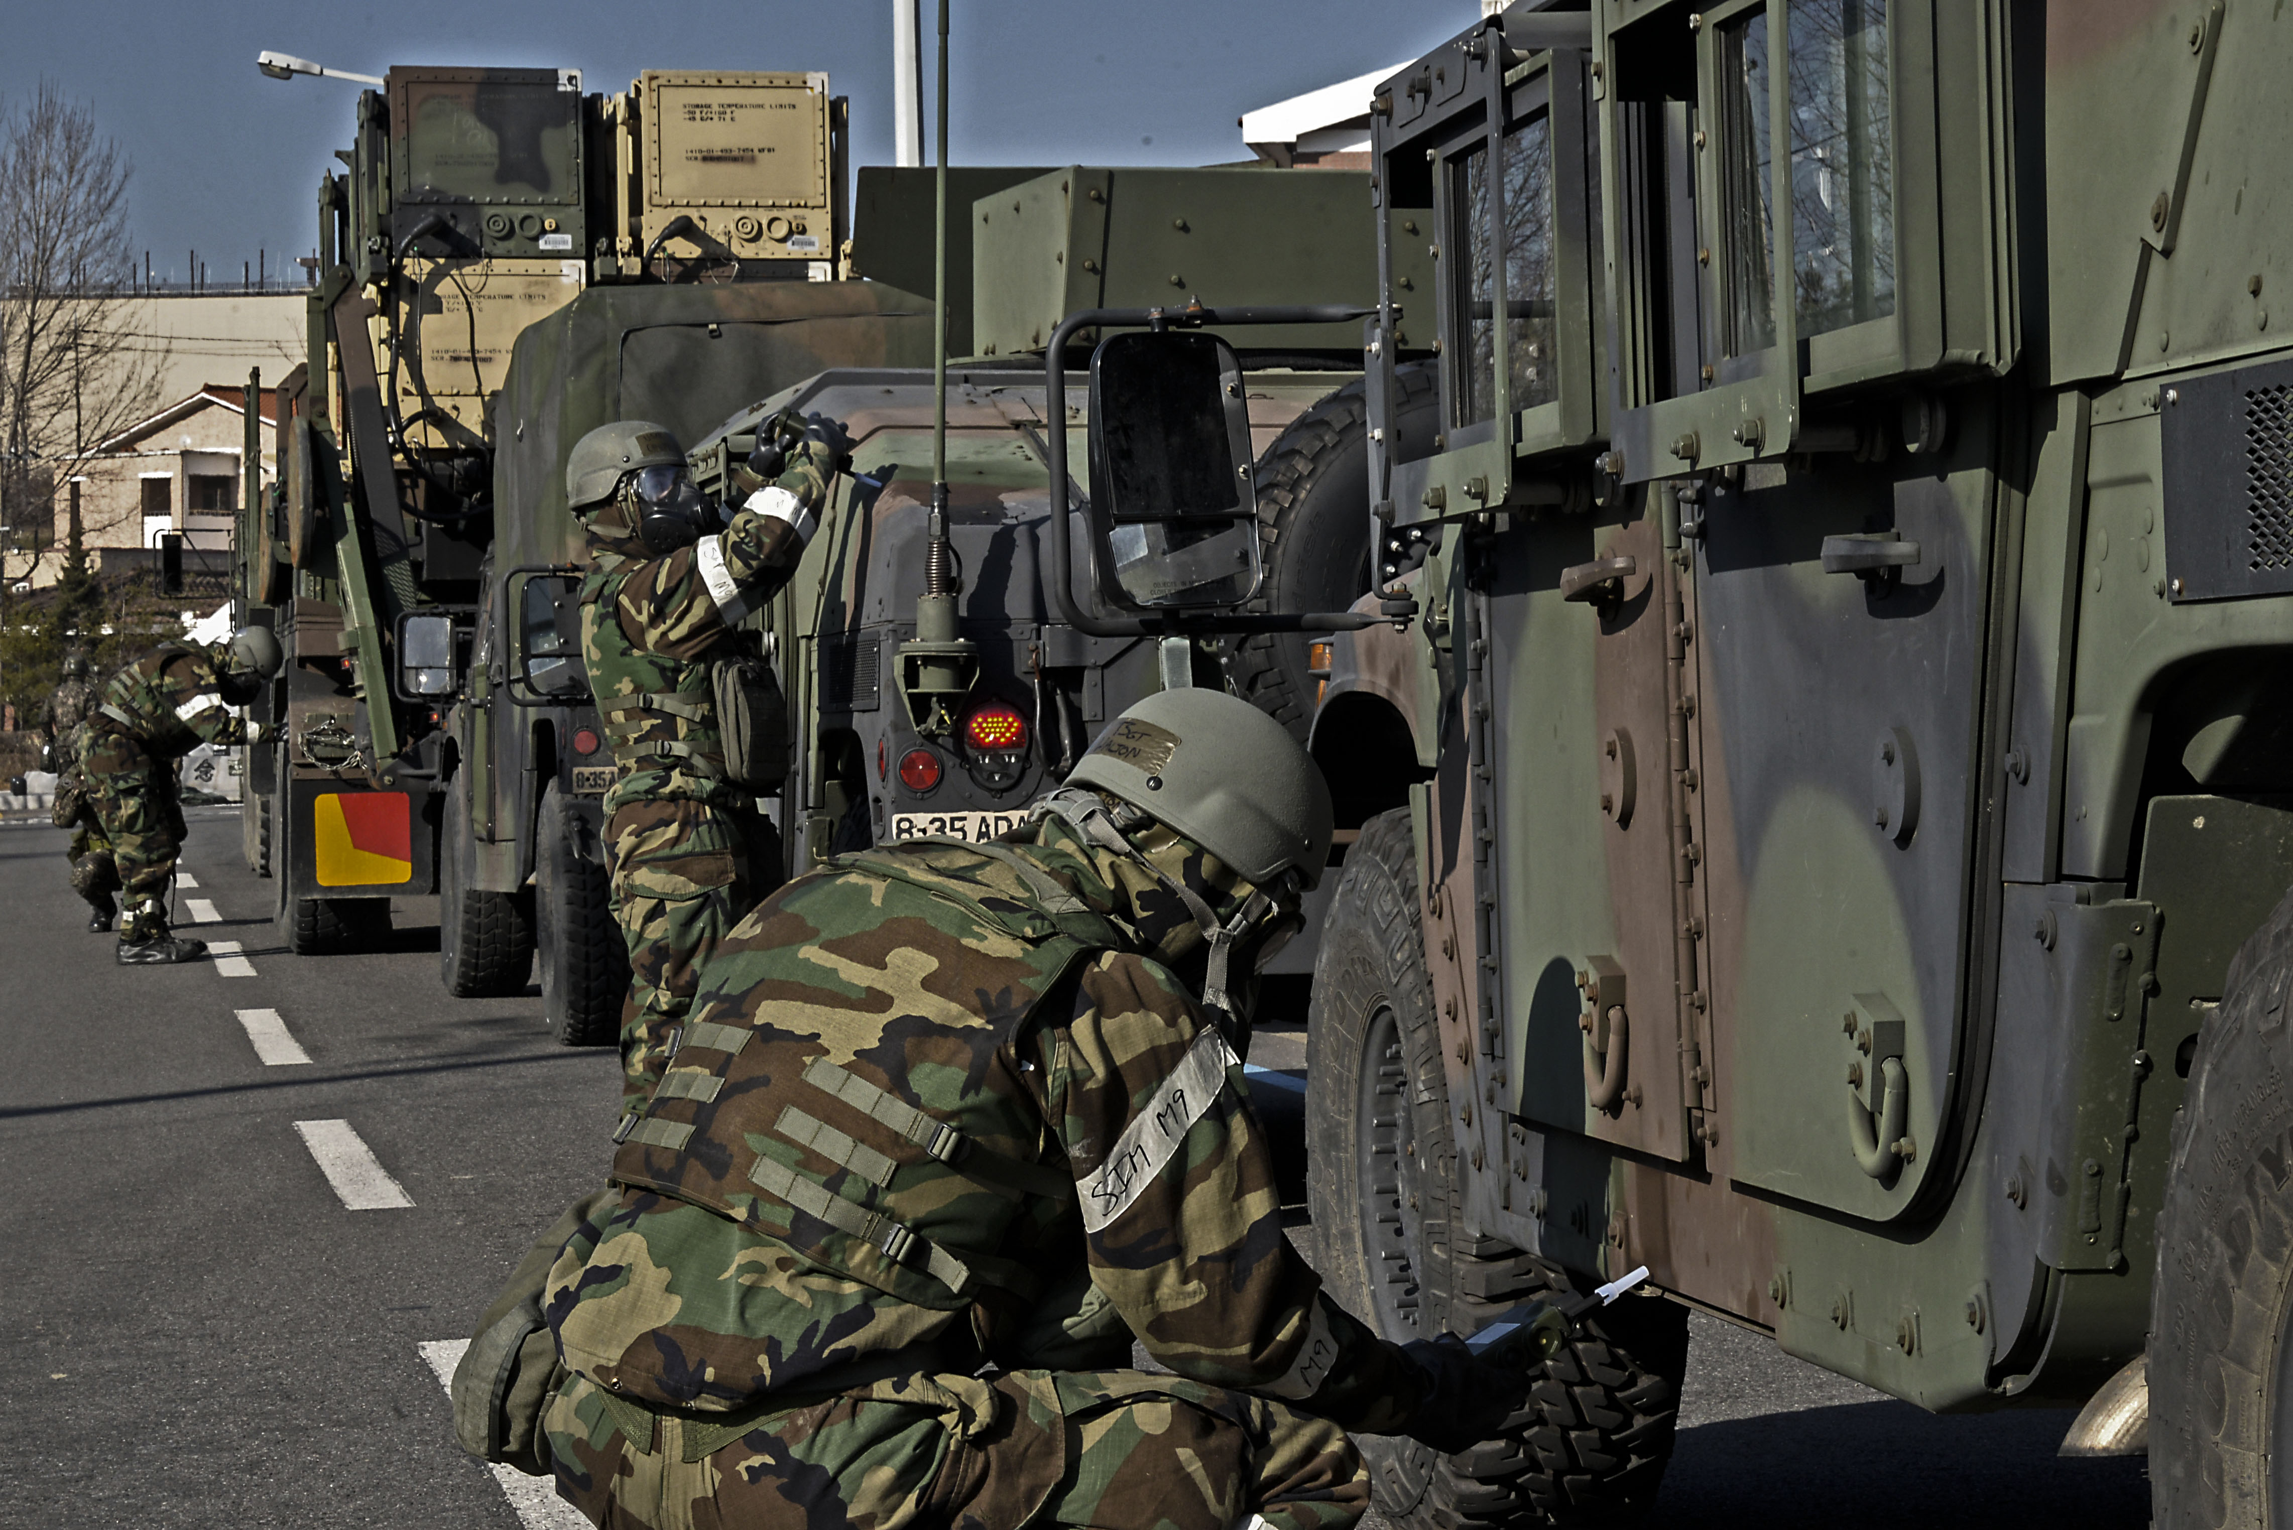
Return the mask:
{"type": "Polygon", "coordinates": [[[706,658],[665,658],[628,642],[612,615],[619,569],[596,569],[580,585],[582,658],[589,693],[621,780],[640,771],[670,775],[654,796],[738,796],[725,787],[725,741],[706,658]],[[676,780],[683,778],[683,780],[676,780]]]}

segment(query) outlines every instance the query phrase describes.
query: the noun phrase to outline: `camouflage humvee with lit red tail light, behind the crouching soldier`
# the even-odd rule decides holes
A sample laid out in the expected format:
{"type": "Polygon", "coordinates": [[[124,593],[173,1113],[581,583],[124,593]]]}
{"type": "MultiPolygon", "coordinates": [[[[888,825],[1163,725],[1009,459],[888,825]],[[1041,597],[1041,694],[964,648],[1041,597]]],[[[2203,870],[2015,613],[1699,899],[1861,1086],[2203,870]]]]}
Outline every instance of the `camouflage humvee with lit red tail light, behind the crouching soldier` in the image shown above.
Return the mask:
{"type": "MultiPolygon", "coordinates": [[[[860,268],[883,261],[867,209],[887,188],[871,188],[871,174],[860,181],[860,268]]],[[[1312,690],[1302,651],[1289,663],[1208,631],[1176,642],[1091,635],[1062,610],[1052,461],[1071,450],[1082,475],[1089,417],[1087,390],[1048,383],[1046,365],[1073,307],[1176,312],[1202,294],[1243,307],[1328,305],[1282,326],[1220,330],[1213,319],[1208,333],[1238,339],[1247,362],[1231,461],[1257,484],[1257,601],[1341,608],[1369,583],[1357,314],[1376,291],[1376,241],[1364,174],[1073,165],[963,206],[972,280],[961,310],[952,305],[947,567],[958,638],[947,651],[917,622],[933,564],[931,372],[830,369],[757,399],[690,450],[702,486],[720,491],[782,408],[825,413],[853,438],[823,534],[759,617],[791,713],[777,803],[791,874],[885,840],[1011,828],[1108,718],[1165,684],[1312,690]]],[[[897,261],[876,268],[922,284],[897,261]]],[[[1080,482],[1073,500],[1080,518],[1080,482]]],[[[1087,548],[1075,530],[1069,585],[1094,619],[1114,608],[1094,587],[1087,548]]],[[[1307,707],[1289,711],[1302,734],[1307,707]]]]}

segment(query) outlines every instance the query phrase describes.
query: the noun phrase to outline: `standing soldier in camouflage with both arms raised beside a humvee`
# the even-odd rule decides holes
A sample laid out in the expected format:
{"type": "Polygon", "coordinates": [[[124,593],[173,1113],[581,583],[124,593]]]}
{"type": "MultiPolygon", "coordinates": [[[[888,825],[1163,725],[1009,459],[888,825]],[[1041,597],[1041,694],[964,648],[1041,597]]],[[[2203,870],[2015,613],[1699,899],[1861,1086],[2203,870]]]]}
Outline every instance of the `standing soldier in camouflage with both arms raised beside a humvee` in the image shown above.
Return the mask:
{"type": "MultiPolygon", "coordinates": [[[[773,424],[773,422],[768,422],[773,424]]],[[[782,422],[784,424],[784,422],[782,422]]],[[[720,665],[757,663],[738,622],[796,571],[835,473],[835,431],[761,431],[754,489],[725,521],[660,424],[624,420],[566,456],[566,502],[589,530],[582,661],[619,780],[605,794],[612,908],[628,940],[624,1110],[644,1103],[692,1002],[699,966],[777,881],[777,840],[727,759],[720,665]]]]}

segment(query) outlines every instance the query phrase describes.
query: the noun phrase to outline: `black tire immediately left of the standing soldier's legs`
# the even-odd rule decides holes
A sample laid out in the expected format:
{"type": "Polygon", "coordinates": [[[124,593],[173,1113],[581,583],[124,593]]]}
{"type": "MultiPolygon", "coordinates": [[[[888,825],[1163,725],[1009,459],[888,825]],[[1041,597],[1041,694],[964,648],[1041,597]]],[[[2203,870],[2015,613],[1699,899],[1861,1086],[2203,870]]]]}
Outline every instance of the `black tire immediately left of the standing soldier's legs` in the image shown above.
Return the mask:
{"type": "Polygon", "coordinates": [[[534,826],[534,952],[541,959],[541,1014],[564,1046],[621,1039],[628,947],[612,918],[605,846],[557,782],[541,794],[534,826]]]}

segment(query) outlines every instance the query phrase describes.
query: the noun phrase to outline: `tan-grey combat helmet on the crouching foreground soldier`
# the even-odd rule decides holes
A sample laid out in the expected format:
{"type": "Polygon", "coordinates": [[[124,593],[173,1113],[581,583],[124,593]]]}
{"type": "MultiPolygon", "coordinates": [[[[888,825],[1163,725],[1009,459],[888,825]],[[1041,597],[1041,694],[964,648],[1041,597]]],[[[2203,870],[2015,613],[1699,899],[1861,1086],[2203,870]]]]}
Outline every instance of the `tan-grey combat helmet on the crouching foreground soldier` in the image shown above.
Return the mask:
{"type": "Polygon", "coordinates": [[[1224,690],[1156,690],[1098,734],[1066,778],[1098,787],[1270,888],[1321,883],[1330,784],[1286,727],[1224,690]]]}

